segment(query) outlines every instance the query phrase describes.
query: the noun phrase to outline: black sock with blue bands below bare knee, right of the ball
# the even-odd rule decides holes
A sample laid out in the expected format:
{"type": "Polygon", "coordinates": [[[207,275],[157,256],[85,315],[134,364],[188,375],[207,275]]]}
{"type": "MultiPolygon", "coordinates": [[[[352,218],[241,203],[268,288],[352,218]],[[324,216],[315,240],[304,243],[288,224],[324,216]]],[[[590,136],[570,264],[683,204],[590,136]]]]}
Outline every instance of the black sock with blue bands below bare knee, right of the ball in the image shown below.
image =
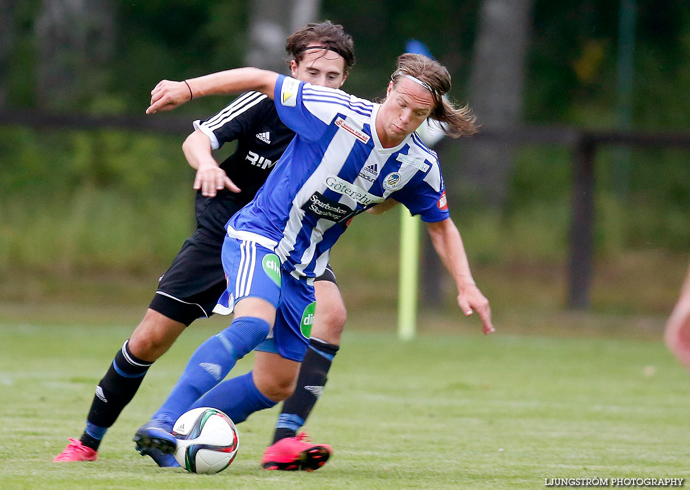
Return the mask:
{"type": "Polygon", "coordinates": [[[281,439],[295,437],[297,430],[304,425],[316,400],[324,391],[328,370],[331,369],[331,362],[337,351],[337,345],[328,344],[316,337],[309,339],[309,346],[297,377],[297,388],[283,403],[275,426],[274,444],[281,439]]]}

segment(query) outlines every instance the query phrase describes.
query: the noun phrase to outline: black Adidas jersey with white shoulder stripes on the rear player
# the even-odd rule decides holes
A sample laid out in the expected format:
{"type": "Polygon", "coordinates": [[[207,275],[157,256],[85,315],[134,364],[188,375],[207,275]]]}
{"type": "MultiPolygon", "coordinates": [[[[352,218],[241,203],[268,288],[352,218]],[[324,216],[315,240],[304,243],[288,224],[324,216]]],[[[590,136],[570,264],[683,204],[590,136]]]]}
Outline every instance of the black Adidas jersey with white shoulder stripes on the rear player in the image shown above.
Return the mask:
{"type": "Polygon", "coordinates": [[[209,137],[214,150],[237,140],[235,153],[220,167],[242,192],[222,189],[215,197],[197,192],[197,230],[222,241],[228,219],[254,199],[295,133],[280,121],[273,100],[262,92],[246,92],[215,116],[195,121],[194,126],[209,137]]]}

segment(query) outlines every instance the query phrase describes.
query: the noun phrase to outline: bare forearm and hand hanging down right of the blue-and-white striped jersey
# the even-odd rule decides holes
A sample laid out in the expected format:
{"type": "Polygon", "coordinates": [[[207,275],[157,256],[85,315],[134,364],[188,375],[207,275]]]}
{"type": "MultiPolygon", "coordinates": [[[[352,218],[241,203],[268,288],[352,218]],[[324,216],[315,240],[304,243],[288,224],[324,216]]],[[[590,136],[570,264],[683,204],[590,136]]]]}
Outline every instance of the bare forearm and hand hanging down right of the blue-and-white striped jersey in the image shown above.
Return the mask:
{"type": "Polygon", "coordinates": [[[489,300],[477,288],[472,278],[460,231],[457,231],[451,218],[427,223],[426,227],[436,253],[453,276],[455,286],[457,286],[457,304],[462,309],[462,313],[469,316],[476,311],[482,319],[484,333],[492,333],[494,328],[491,323],[489,300]]]}

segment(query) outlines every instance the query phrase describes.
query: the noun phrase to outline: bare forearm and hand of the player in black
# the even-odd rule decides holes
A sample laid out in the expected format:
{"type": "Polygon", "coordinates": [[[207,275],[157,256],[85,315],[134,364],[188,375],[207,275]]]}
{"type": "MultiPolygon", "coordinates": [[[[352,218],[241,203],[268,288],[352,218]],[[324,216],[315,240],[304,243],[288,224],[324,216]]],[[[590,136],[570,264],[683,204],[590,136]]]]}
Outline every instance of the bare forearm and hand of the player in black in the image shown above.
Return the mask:
{"type": "Polygon", "coordinates": [[[201,130],[195,130],[184,140],[182,151],[189,165],[197,170],[194,188],[201,189],[201,195],[214,197],[224,187],[233,193],[239,193],[239,187],[230,180],[225,170],[220,168],[213,158],[211,141],[201,130]]]}

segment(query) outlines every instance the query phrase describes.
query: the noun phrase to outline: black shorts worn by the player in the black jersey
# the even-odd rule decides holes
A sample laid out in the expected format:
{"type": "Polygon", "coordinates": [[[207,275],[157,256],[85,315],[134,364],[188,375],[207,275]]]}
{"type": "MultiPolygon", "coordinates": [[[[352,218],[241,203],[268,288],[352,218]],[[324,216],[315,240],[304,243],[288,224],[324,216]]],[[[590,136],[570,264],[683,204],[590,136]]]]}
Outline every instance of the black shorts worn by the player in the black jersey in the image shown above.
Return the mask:
{"type": "MultiPolygon", "coordinates": [[[[221,263],[222,247],[222,240],[195,231],[184,241],[168,271],[161,275],[148,307],[184,325],[213,315],[213,308],[227,286],[221,263]]],[[[337,284],[330,264],[315,281],[337,284]]]]}

